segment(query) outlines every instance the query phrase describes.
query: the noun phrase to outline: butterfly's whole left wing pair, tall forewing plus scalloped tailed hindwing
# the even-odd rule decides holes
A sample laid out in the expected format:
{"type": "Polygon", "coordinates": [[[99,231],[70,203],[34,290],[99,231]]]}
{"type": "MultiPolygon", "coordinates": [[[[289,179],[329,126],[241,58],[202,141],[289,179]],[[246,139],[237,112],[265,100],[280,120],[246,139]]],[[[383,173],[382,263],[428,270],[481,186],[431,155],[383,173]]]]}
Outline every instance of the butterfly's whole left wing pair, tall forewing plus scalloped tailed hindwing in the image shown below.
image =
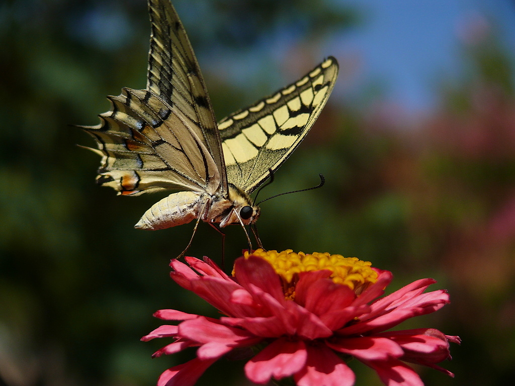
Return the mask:
{"type": "Polygon", "coordinates": [[[123,195],[161,189],[227,194],[221,142],[198,62],[169,1],[149,0],[147,90],[109,97],[83,127],[102,155],[97,182],[123,195]]]}

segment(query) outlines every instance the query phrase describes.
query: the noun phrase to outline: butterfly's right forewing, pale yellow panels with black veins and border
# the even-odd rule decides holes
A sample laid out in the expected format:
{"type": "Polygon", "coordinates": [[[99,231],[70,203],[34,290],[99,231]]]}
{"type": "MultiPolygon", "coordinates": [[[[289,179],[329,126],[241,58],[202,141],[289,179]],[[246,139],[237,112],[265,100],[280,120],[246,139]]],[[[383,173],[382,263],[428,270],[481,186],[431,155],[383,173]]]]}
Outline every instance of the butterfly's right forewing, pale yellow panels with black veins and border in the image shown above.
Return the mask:
{"type": "Polygon", "coordinates": [[[239,110],[218,124],[227,178],[247,193],[300,144],[329,98],[338,75],[329,57],[298,81],[239,110]]]}

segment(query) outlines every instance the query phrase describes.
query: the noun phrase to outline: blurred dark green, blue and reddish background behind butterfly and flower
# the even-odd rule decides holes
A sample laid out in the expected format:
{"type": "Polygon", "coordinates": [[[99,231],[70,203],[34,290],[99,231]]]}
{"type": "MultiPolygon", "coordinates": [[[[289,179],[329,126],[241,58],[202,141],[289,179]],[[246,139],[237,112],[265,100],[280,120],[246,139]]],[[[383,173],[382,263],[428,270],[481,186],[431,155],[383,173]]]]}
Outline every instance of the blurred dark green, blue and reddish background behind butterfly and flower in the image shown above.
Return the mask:
{"type": "MultiPolygon", "coordinates": [[[[515,4],[509,0],[176,0],[218,118],[294,81],[323,57],[340,75],[303,144],[262,198],[268,249],[328,251],[393,271],[389,291],[438,280],[452,303],[403,325],[460,335],[448,378],[515,376],[515,4]]],[[[0,3],[0,385],[155,384],[187,351],[152,360],[139,339],[161,308],[216,315],[168,276],[193,224],[133,224],[160,196],[94,184],[106,95],[145,86],[144,0],[0,3]]],[[[226,260],[246,247],[227,229],[226,260]]],[[[220,261],[201,224],[189,254],[220,261]]],[[[245,385],[220,361],[199,385],[245,385]]],[[[351,363],[357,385],[379,385],[351,363]]]]}

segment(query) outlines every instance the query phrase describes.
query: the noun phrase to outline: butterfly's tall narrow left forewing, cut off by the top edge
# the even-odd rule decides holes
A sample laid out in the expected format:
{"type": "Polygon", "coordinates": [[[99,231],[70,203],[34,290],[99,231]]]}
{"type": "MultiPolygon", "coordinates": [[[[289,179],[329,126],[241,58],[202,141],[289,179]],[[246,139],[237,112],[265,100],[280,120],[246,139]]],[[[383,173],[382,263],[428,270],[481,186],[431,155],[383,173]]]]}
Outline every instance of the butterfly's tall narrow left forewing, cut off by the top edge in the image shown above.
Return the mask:
{"type": "Polygon", "coordinates": [[[227,192],[227,177],[213,109],[200,67],[179,16],[169,1],[149,0],[151,22],[147,89],[191,121],[207,143],[221,174],[220,191],[227,192]]]}

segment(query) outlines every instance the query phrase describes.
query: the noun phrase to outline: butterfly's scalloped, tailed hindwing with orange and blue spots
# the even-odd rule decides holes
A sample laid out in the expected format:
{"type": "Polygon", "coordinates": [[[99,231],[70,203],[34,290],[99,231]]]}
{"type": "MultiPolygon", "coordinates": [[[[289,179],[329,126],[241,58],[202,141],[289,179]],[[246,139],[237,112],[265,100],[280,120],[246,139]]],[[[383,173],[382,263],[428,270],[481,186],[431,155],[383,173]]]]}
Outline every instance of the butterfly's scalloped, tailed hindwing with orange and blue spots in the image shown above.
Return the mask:
{"type": "Polygon", "coordinates": [[[161,189],[207,191],[219,186],[217,166],[197,129],[147,90],[109,97],[112,110],[83,127],[102,155],[97,182],[123,195],[161,189]],[[173,128],[173,130],[171,130],[173,128]]]}

